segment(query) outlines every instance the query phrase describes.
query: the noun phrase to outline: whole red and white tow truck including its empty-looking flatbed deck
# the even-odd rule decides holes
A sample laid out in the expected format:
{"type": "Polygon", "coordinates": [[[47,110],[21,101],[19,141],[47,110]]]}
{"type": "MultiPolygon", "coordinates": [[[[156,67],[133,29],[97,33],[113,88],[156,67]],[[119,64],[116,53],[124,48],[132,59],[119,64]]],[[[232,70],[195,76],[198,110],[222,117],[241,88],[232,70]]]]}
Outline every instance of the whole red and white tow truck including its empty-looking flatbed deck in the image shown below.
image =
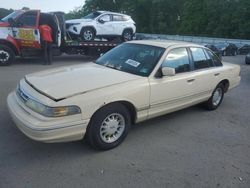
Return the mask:
{"type": "Polygon", "coordinates": [[[43,13],[40,10],[17,10],[0,20],[0,66],[11,65],[15,57],[42,55],[39,25],[52,28],[53,56],[66,54],[100,55],[122,41],[81,41],[66,32],[63,12],[43,13]]]}

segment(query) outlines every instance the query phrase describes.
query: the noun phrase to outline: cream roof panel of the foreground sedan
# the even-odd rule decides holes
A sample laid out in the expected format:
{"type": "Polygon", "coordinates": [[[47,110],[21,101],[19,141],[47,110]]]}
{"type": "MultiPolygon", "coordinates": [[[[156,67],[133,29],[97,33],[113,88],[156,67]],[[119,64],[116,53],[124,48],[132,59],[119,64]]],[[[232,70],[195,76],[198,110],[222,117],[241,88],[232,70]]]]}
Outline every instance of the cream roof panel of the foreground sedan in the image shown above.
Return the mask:
{"type": "Polygon", "coordinates": [[[195,46],[195,47],[204,48],[204,46],[198,45],[195,43],[173,41],[173,40],[134,40],[134,41],[129,41],[127,43],[144,44],[144,45],[151,45],[151,46],[157,46],[157,47],[162,47],[162,48],[169,48],[170,46],[195,46]]]}

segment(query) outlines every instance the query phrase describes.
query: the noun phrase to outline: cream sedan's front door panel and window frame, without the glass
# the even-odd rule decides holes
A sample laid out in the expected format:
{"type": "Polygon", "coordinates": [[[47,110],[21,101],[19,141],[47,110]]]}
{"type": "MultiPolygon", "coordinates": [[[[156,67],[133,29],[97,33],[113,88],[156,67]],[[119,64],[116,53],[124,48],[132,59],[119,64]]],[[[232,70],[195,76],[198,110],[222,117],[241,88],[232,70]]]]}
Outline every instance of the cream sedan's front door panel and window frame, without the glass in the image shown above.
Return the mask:
{"type": "MultiPolygon", "coordinates": [[[[159,115],[163,115],[166,113],[170,113],[188,106],[191,106],[195,104],[196,101],[193,99],[195,98],[195,93],[193,93],[193,88],[195,87],[195,79],[193,75],[193,62],[190,56],[190,52],[188,50],[187,46],[184,45],[177,45],[174,47],[168,47],[162,56],[161,60],[159,63],[156,65],[155,69],[152,71],[151,75],[149,76],[149,84],[150,84],[150,90],[151,90],[151,95],[150,95],[150,108],[149,108],[149,113],[148,117],[153,118],[157,117],[159,115]],[[175,76],[172,77],[157,77],[158,71],[161,69],[162,64],[164,63],[164,60],[167,58],[167,55],[171,52],[173,49],[177,48],[185,48],[187,51],[188,59],[189,59],[189,64],[190,64],[190,70],[188,72],[184,73],[178,73],[175,76]],[[168,87],[166,86],[163,88],[162,84],[169,84],[173,86],[173,82],[179,82],[179,85],[186,86],[184,89],[186,90],[185,96],[181,97],[174,97],[174,92],[172,92],[171,96],[166,96],[164,100],[162,100],[162,96],[158,96],[158,99],[155,100],[153,98],[157,97],[157,94],[159,92],[159,89],[157,89],[157,86],[159,86],[161,89],[163,89],[164,93],[168,94],[168,87]],[[155,88],[154,88],[155,87],[155,88]],[[154,91],[155,90],[155,91],[154,91]]],[[[158,87],[158,88],[159,88],[158,87]]],[[[180,89],[175,86],[175,88],[180,89]]],[[[180,91],[179,91],[180,92],[180,91]]]]}

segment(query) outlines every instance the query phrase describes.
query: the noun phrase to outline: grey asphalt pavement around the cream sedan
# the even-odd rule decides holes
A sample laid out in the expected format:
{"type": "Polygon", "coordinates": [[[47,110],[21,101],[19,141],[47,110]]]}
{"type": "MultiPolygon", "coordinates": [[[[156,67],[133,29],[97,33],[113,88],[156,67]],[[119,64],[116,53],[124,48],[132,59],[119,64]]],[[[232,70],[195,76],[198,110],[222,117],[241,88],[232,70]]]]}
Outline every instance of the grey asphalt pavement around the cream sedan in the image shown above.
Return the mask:
{"type": "Polygon", "coordinates": [[[89,58],[57,58],[52,66],[17,60],[0,67],[0,188],[250,187],[250,66],[243,56],[241,85],[221,107],[191,107],[133,126],[125,142],[98,152],[84,142],[44,144],[13,124],[7,94],[25,74],[89,58]]]}

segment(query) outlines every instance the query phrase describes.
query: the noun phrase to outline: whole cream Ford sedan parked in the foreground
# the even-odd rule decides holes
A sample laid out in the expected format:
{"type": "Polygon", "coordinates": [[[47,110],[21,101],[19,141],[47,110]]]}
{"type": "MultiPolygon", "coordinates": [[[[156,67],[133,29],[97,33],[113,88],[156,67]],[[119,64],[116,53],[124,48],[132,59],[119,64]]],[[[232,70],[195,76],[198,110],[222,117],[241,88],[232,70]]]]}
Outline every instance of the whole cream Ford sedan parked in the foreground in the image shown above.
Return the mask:
{"type": "Polygon", "coordinates": [[[131,41],[95,63],[25,76],[8,96],[28,137],[43,142],[119,145],[130,125],[203,102],[215,110],[240,83],[240,67],[209,49],[174,41],[131,41]]]}

